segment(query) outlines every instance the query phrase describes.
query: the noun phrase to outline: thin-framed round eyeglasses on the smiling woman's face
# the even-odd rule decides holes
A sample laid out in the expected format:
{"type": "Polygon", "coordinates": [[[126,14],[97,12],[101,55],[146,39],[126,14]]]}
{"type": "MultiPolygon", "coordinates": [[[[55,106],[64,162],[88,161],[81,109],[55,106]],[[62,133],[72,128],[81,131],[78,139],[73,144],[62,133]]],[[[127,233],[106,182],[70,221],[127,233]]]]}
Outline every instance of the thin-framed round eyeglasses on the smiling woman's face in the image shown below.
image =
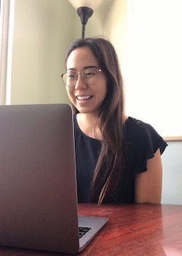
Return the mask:
{"type": "Polygon", "coordinates": [[[82,75],[82,79],[88,86],[96,83],[98,80],[98,72],[101,72],[101,69],[89,68],[84,69],[81,73],[74,73],[67,71],[66,73],[60,75],[63,80],[63,83],[68,87],[74,87],[76,85],[76,80],[78,80],[78,75],[82,75]]]}

